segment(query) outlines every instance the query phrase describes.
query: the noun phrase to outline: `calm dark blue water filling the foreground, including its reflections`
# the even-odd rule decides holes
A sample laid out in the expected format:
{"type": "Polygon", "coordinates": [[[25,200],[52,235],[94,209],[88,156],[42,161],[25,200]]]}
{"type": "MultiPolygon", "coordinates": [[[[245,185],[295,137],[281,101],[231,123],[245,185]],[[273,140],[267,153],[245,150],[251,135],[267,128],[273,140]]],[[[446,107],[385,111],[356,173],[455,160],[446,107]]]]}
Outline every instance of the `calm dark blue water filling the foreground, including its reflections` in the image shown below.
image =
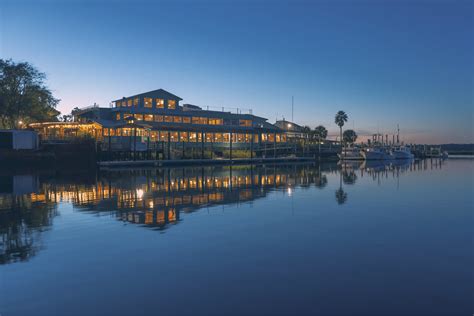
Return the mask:
{"type": "Polygon", "coordinates": [[[0,314],[471,315],[474,161],[343,167],[1,176],[0,314]]]}

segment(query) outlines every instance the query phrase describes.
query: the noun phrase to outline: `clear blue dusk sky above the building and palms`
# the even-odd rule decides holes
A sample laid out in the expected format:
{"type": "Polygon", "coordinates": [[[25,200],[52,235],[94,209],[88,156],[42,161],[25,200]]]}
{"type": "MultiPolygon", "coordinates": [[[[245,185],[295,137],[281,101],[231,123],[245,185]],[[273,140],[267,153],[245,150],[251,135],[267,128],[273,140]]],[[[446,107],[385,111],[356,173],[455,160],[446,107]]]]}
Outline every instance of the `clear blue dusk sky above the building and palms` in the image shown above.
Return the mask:
{"type": "Polygon", "coordinates": [[[0,58],[47,75],[58,109],[155,89],[338,134],[472,143],[474,1],[0,3],[0,58]]]}

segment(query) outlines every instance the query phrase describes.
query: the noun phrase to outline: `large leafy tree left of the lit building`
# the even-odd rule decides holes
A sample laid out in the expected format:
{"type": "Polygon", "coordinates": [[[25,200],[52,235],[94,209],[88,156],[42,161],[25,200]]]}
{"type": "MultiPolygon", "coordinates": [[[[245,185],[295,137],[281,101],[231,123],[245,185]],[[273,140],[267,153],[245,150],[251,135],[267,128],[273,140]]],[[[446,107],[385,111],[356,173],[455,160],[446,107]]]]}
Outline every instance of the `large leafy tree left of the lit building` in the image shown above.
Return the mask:
{"type": "Polygon", "coordinates": [[[0,59],[0,127],[56,121],[59,99],[45,85],[46,75],[27,62],[0,59]]]}

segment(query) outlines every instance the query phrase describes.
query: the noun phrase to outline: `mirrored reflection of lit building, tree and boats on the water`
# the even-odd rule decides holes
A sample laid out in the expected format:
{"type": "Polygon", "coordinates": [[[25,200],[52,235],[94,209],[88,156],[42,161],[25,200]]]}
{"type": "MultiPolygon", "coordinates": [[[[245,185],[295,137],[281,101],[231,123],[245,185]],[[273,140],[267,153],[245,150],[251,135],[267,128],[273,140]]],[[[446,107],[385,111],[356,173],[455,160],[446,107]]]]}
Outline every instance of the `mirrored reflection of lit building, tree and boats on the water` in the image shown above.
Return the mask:
{"type": "MultiPolygon", "coordinates": [[[[28,260],[42,249],[42,234],[53,224],[59,202],[74,210],[108,214],[118,221],[163,231],[183,215],[216,205],[252,203],[272,191],[333,184],[336,203],[347,204],[347,188],[363,178],[384,178],[426,170],[422,162],[351,162],[264,167],[233,166],[111,171],[74,176],[0,177],[0,264],[28,260]],[[17,178],[15,178],[17,177],[17,178]]],[[[441,168],[442,163],[431,164],[441,168]]],[[[349,201],[350,202],[350,201],[349,201]]]]}

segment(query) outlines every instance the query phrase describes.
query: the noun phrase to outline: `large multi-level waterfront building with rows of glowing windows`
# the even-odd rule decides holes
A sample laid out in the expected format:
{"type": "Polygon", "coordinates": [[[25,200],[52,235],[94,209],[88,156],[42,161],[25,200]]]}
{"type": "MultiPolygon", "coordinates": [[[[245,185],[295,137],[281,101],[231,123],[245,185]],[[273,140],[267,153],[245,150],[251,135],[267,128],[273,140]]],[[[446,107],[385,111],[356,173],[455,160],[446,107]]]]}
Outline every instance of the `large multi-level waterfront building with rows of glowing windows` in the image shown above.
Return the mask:
{"type": "MultiPolygon", "coordinates": [[[[158,89],[74,111],[73,122],[34,123],[43,140],[91,137],[106,150],[146,151],[160,143],[256,149],[286,142],[286,133],[251,113],[212,111],[158,89]]],[[[175,147],[176,149],[176,147],[175,147]]],[[[182,146],[184,153],[185,147],[182,146]]],[[[168,146],[168,151],[170,147],[168,146]]],[[[169,156],[169,155],[168,155],[169,156]]]]}

